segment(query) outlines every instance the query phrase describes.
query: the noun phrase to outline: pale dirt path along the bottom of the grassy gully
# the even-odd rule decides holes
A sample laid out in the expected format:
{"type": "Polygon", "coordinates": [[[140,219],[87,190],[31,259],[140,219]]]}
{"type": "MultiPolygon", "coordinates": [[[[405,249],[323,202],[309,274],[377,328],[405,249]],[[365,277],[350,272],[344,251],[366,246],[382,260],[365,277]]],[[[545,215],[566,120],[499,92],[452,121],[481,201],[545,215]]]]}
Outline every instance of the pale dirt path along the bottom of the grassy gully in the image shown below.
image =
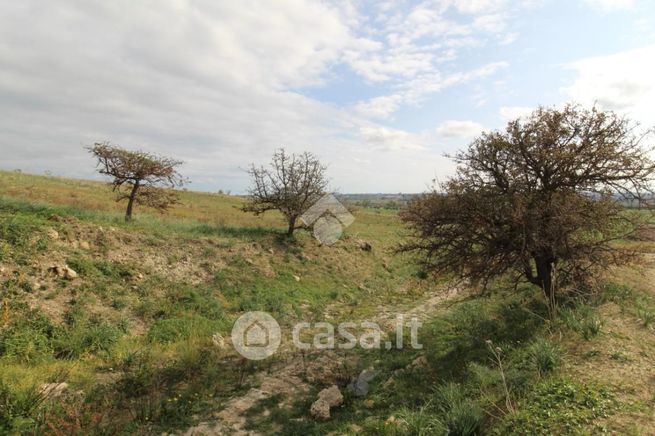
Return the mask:
{"type": "MultiPolygon", "coordinates": [[[[409,308],[383,307],[374,317],[369,317],[366,321],[376,322],[383,330],[390,331],[395,326],[398,314],[402,314],[405,321],[412,318],[425,320],[442,303],[458,294],[458,289],[455,287],[440,288],[409,308]]],[[[302,355],[297,350],[289,349],[290,347],[282,348],[287,350],[277,352],[276,364],[266,371],[254,374],[248,380],[248,384],[259,387],[251,388],[244,395],[230,399],[222,410],[214,414],[214,421],[202,422],[191,427],[184,435],[256,436],[259,433],[245,430],[248,420],[246,415],[260,401],[274,395],[281,395],[283,398],[281,405],[285,406],[287,405],[285,403],[290,403],[298,396],[306,394],[314,380],[336,382],[340,379],[348,380],[354,375],[347,373],[344,357],[338,356],[334,350],[315,350],[312,354],[302,355]]],[[[267,411],[261,413],[265,416],[267,411]]]]}

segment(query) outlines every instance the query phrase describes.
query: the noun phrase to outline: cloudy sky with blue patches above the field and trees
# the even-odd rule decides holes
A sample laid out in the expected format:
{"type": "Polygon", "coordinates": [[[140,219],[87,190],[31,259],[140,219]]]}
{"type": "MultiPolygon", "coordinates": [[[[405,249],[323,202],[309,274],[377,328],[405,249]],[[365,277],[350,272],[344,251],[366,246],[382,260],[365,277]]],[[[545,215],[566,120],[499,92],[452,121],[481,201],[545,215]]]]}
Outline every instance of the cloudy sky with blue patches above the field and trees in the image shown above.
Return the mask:
{"type": "Polygon", "coordinates": [[[100,178],[110,141],[246,192],[274,150],[421,192],[539,105],[655,125],[652,0],[0,0],[0,169],[100,178]]]}

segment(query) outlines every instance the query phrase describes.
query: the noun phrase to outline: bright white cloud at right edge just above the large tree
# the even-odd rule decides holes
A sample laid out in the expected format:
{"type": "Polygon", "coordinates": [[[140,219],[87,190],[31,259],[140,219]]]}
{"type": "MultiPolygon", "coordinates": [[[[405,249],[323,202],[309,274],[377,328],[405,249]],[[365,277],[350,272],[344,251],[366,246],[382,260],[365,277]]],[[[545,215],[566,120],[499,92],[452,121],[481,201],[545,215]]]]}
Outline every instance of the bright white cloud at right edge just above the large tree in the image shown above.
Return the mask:
{"type": "Polygon", "coordinates": [[[573,101],[628,113],[652,124],[655,45],[581,59],[567,68],[575,71],[576,78],[562,91],[573,101]]]}

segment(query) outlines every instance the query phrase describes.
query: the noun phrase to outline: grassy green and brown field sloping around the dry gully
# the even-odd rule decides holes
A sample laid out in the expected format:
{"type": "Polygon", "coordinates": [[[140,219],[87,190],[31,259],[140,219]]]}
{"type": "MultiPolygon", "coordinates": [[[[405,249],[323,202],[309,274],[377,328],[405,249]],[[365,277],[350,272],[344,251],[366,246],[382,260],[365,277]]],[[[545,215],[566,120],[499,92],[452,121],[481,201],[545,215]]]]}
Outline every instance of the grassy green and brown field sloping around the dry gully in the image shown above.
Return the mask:
{"type": "MultiPolygon", "coordinates": [[[[283,236],[238,197],[183,192],[166,215],[106,184],[0,172],[0,434],[655,433],[655,242],[594,298],[549,320],[541,294],[424,273],[394,248],[397,211],[359,207],[333,246],[283,236]],[[372,249],[363,250],[362,242],[372,249]],[[67,266],[75,277],[58,274],[67,266]],[[229,344],[244,312],[299,321],[423,321],[423,348],[229,344]],[[348,385],[374,372],[370,390],[348,385]],[[343,404],[314,419],[317,393],[343,404]]],[[[409,338],[406,338],[408,342],[409,338]]]]}

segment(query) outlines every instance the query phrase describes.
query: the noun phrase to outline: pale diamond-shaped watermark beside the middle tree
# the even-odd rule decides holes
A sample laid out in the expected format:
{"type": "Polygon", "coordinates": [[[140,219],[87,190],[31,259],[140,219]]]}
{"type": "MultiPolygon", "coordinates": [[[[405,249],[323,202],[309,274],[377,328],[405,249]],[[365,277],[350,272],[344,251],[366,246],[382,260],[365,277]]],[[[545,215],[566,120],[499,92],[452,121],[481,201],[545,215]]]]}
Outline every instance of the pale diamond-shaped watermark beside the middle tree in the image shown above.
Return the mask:
{"type": "Polygon", "coordinates": [[[314,237],[325,245],[337,242],[343,229],[355,221],[355,217],[333,194],[321,197],[300,219],[313,228],[314,237]]]}

